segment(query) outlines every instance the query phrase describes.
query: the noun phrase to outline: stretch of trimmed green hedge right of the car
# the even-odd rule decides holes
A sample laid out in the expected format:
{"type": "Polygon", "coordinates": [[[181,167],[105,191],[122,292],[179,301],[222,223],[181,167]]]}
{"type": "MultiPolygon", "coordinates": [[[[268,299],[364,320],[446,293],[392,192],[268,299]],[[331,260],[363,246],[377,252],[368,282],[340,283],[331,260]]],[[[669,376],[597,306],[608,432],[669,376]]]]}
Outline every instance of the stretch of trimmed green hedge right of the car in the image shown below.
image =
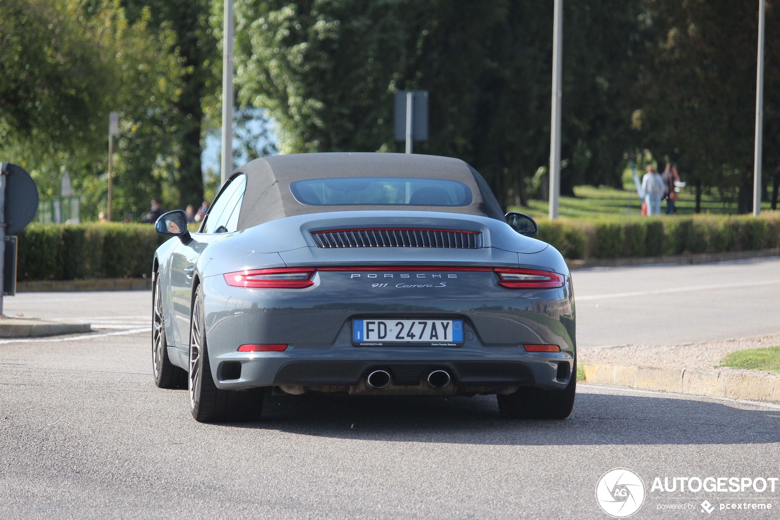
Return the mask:
{"type": "Polygon", "coordinates": [[[780,211],[748,215],[539,221],[537,239],[569,260],[723,253],[780,247],[780,211]]]}

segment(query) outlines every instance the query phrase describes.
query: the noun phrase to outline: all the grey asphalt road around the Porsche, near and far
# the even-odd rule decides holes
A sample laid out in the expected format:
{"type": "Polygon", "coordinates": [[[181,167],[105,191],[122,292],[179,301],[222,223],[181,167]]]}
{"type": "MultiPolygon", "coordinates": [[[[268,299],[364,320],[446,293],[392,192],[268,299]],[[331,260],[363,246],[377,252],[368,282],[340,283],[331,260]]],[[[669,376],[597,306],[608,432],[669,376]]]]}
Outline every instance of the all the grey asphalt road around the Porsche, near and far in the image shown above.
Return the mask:
{"type": "MultiPolygon", "coordinates": [[[[754,270],[771,280],[778,267],[576,273],[580,342],[620,342],[615,324],[626,333],[644,327],[643,313],[658,319],[657,299],[668,294],[666,302],[679,303],[677,320],[710,320],[691,326],[706,339],[714,338],[712,313],[722,313],[728,337],[761,334],[764,320],[752,313],[777,324],[777,304],[754,295],[761,286],[614,295],[746,284],[754,270]],[[661,281],[669,283],[654,285],[661,281]],[[739,305],[722,310],[713,294],[739,305]],[[692,301],[712,311],[698,315],[692,301]],[[583,302],[600,306],[589,311],[583,302]],[[601,302],[617,317],[605,317],[601,302]]],[[[780,508],[780,483],[774,493],[651,491],[656,477],[780,477],[778,405],[580,385],[572,416],[544,422],[500,419],[493,396],[268,395],[261,422],[205,425],[190,417],[186,391],[151,380],[150,307],[148,292],[5,299],[7,315],[101,328],[67,341],[0,341],[0,518],[608,518],[595,490],[617,467],[644,481],[632,518],[746,518],[719,509],[737,502],[772,504],[749,517],[776,518],[780,508]],[[711,515],[701,509],[705,499],[711,515]],[[690,509],[660,509],[679,504],[690,509]]],[[[660,341],[689,329],[635,334],[660,341]]]]}

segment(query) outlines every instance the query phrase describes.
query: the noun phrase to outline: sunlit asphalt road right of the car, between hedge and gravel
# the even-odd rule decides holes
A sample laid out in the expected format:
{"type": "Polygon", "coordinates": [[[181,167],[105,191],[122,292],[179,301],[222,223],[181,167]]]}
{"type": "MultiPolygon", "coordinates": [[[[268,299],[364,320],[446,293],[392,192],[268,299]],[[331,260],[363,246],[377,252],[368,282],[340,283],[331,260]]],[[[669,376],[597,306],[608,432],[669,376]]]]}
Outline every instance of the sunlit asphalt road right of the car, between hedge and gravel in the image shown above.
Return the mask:
{"type": "Polygon", "coordinates": [[[676,345],[780,332],[780,258],[573,271],[577,345],[676,345]]]}

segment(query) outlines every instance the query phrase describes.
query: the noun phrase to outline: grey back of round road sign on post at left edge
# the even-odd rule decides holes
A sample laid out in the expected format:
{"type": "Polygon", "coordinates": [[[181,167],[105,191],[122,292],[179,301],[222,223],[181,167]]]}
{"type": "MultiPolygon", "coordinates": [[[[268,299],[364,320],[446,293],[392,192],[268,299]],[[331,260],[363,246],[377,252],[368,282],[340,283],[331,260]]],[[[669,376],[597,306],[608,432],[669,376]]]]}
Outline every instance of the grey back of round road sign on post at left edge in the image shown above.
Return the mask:
{"type": "Polygon", "coordinates": [[[30,174],[16,164],[0,163],[0,316],[3,295],[16,292],[16,237],[5,235],[30,224],[37,209],[38,189],[30,174]],[[12,254],[6,255],[6,242],[12,254]]]}

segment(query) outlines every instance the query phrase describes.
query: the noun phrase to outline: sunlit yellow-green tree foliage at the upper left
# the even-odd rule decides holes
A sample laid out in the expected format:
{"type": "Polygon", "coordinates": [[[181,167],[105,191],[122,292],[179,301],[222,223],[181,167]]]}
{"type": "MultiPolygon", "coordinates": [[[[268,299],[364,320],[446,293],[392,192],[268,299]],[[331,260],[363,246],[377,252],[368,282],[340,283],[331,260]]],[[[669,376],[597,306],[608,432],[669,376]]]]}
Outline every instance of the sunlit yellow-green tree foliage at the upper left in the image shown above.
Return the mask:
{"type": "Polygon", "coordinates": [[[112,0],[0,4],[3,159],[27,168],[44,198],[68,170],[83,218],[105,210],[108,111],[122,113],[115,215],[140,214],[173,169],[168,108],[181,68],[171,35],[150,34],[148,18],[130,24],[112,0]]]}

